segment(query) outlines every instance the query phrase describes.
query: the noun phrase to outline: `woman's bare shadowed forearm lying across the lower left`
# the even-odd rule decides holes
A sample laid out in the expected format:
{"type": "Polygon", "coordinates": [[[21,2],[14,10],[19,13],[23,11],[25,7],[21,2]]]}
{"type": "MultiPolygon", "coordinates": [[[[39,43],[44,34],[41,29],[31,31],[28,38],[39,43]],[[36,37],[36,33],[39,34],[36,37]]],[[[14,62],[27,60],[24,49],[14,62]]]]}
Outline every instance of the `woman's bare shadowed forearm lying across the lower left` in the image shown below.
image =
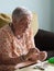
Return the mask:
{"type": "Polygon", "coordinates": [[[23,58],[21,57],[17,57],[17,58],[8,58],[8,59],[2,59],[0,60],[0,64],[18,64],[20,62],[23,62],[23,58]]]}

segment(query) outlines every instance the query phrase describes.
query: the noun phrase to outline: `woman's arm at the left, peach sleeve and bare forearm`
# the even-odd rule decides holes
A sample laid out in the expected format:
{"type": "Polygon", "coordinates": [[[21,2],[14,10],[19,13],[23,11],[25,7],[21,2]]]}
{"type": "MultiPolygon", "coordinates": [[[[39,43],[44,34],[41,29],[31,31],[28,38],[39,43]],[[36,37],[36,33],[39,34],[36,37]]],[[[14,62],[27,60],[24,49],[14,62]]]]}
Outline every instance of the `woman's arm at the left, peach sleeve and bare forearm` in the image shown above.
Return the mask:
{"type": "Polygon", "coordinates": [[[17,64],[23,61],[22,56],[12,56],[11,45],[8,35],[0,32],[0,64],[17,64]]]}

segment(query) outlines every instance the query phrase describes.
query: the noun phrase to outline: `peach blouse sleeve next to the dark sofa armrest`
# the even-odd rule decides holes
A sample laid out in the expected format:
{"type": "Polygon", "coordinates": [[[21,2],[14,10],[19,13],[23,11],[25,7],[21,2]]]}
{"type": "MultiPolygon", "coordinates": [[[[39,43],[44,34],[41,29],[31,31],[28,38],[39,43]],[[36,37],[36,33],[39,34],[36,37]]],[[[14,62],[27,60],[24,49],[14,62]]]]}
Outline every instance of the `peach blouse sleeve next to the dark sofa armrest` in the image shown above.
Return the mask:
{"type": "Polygon", "coordinates": [[[34,36],[31,28],[26,33],[26,48],[35,48],[34,36]]]}

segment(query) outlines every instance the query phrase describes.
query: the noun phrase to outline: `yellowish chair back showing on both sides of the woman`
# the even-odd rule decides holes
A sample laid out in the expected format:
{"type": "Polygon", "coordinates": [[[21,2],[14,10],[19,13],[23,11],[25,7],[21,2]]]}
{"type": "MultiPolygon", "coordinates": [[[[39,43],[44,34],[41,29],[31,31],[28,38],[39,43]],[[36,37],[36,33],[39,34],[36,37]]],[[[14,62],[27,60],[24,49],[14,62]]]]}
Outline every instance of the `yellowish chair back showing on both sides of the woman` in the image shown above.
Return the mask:
{"type": "MultiPolygon", "coordinates": [[[[0,13],[0,28],[4,26],[6,24],[11,22],[11,15],[6,13],[0,13]]],[[[37,33],[39,24],[37,24],[37,15],[36,13],[33,13],[33,19],[31,22],[31,27],[33,29],[33,35],[37,33]]]]}

